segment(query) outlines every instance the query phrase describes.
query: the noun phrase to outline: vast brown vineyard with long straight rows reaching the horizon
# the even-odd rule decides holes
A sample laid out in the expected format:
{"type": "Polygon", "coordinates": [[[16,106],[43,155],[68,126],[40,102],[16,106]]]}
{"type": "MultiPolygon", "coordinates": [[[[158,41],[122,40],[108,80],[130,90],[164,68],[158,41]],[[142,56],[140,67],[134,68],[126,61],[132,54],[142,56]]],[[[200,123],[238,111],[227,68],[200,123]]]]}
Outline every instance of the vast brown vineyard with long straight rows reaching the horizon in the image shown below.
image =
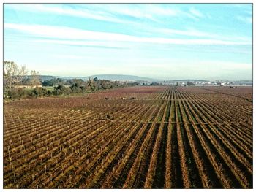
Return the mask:
{"type": "Polygon", "coordinates": [[[252,87],[4,104],[4,188],[252,188],[252,87]]]}

